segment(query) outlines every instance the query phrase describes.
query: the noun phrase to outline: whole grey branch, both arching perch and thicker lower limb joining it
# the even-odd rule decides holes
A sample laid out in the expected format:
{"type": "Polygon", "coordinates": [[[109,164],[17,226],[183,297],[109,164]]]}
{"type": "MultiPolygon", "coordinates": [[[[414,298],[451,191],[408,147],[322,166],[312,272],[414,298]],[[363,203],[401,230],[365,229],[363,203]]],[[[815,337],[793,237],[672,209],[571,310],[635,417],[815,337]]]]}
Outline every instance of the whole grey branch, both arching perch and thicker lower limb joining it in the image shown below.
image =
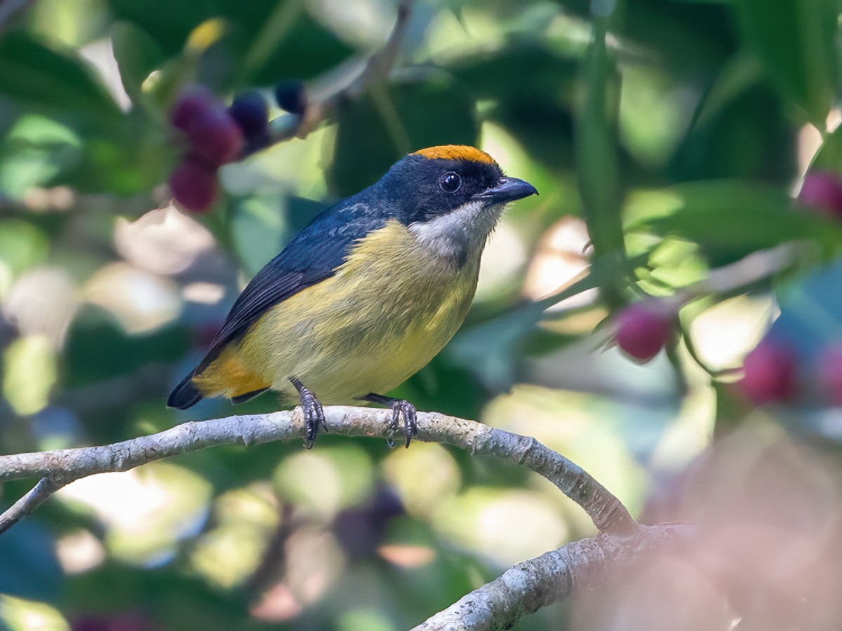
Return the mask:
{"type": "MultiPolygon", "coordinates": [[[[328,427],[343,436],[389,437],[392,411],[350,406],[325,408],[328,427]]],[[[0,533],[73,480],[222,444],[246,447],[305,435],[301,408],[271,414],[190,421],[163,432],[100,447],[56,449],[0,456],[0,481],[39,477],[35,488],[0,515],[0,533]]],[[[519,618],[567,597],[574,587],[594,584],[606,567],[631,561],[672,536],[674,526],[635,522],[603,485],[535,438],[434,412],[418,414],[418,439],[448,443],[473,455],[495,456],[525,466],[552,481],[584,508],[600,534],[524,561],[496,581],[473,591],[420,629],[508,628],[519,618]]]]}

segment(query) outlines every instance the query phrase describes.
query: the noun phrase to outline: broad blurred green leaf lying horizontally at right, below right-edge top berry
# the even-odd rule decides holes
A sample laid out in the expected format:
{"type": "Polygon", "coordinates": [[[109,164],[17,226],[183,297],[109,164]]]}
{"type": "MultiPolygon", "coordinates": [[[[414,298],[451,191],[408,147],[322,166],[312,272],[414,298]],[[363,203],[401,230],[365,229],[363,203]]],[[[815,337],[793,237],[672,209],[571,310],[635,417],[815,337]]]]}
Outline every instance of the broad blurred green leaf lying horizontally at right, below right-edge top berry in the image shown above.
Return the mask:
{"type": "Polygon", "coordinates": [[[700,244],[709,254],[731,260],[793,239],[813,239],[825,252],[838,250],[842,244],[838,222],[793,208],[780,189],[728,180],[681,184],[672,192],[682,200],[678,209],[628,230],[679,236],[700,244]]]}

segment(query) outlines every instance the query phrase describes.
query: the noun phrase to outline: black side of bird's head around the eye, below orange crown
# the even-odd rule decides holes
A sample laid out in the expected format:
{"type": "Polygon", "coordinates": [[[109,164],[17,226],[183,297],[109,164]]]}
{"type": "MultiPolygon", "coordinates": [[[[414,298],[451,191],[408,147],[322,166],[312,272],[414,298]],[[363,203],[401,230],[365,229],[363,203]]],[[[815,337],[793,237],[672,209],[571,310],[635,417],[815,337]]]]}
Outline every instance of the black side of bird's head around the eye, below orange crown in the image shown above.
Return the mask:
{"type": "Polygon", "coordinates": [[[410,154],[397,162],[377,184],[379,193],[392,204],[392,213],[409,225],[429,221],[474,200],[482,198],[504,181],[496,162],[430,159],[410,154]]]}

